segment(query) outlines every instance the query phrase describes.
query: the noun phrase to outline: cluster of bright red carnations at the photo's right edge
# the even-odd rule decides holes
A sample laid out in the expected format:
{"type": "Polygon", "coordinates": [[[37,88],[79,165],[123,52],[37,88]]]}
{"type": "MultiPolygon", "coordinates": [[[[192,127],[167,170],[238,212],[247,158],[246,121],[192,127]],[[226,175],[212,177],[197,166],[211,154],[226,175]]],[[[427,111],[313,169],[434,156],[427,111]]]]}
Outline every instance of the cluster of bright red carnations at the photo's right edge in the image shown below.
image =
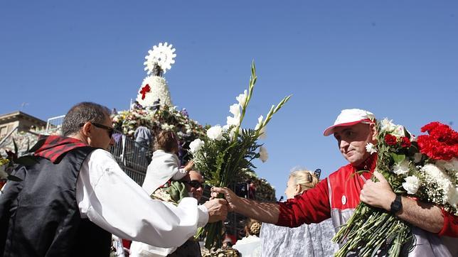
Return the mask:
{"type": "Polygon", "coordinates": [[[420,152],[435,160],[450,160],[458,157],[458,132],[440,122],[431,122],[422,127],[429,135],[418,136],[420,152]]]}

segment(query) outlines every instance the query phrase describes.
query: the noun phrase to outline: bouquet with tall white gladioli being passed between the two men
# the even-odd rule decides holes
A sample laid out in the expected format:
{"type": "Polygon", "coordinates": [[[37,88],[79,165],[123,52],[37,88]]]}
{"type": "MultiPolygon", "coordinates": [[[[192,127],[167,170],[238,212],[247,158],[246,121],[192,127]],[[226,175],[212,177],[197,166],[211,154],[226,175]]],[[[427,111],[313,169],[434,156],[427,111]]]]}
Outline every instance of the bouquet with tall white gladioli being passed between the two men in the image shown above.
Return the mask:
{"type": "MultiPolygon", "coordinates": [[[[267,116],[260,116],[254,129],[241,128],[247,105],[253,94],[256,83],[255,64],[251,66],[251,77],[248,90],[236,97],[238,103],[230,106],[230,113],[225,126],[213,126],[208,129],[206,137],[196,139],[190,144],[190,151],[198,170],[203,172],[206,184],[215,187],[227,187],[245,170],[255,168],[251,161],[260,158],[267,160],[267,151],[257,143],[258,138],[265,136],[265,128],[275,114],[289,100],[284,97],[277,106],[272,105],[267,116]],[[258,151],[259,149],[259,151],[258,151]]],[[[219,248],[222,241],[223,222],[208,224],[201,233],[206,236],[206,247],[219,248]]]]}

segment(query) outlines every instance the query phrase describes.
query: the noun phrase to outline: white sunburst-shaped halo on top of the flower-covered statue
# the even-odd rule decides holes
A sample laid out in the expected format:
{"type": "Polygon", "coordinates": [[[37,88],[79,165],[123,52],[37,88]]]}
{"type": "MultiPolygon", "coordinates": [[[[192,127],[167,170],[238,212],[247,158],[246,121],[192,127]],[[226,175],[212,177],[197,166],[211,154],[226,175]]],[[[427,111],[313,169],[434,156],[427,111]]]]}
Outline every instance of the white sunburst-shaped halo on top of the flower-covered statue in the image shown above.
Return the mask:
{"type": "Polygon", "coordinates": [[[144,70],[147,70],[148,75],[150,75],[154,70],[154,65],[157,64],[166,73],[167,70],[170,70],[171,65],[175,63],[176,54],[174,52],[175,48],[172,48],[172,45],[168,45],[167,42],[154,45],[151,50],[148,50],[148,55],[145,56],[146,61],[143,64],[146,67],[144,67],[144,70]]]}

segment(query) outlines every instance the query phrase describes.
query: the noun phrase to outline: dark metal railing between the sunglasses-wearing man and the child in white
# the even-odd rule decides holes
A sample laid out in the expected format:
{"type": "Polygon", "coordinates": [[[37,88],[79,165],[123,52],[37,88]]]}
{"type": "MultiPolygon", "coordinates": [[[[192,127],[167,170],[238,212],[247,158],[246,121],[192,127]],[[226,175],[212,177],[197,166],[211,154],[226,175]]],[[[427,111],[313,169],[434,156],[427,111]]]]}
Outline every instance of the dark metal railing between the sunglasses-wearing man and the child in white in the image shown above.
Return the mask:
{"type": "Polygon", "coordinates": [[[119,131],[116,132],[113,134],[115,145],[110,148],[110,153],[115,157],[122,170],[137,184],[142,185],[153,155],[151,148],[135,142],[119,131]]]}

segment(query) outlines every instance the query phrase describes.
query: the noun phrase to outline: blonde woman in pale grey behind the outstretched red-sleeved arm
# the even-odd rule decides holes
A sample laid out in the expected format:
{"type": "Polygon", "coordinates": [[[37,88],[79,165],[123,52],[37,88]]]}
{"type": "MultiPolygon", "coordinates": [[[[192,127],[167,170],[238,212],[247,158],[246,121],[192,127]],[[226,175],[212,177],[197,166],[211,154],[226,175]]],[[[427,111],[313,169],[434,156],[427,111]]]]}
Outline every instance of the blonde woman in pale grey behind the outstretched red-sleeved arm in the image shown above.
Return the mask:
{"type": "MultiPolygon", "coordinates": [[[[309,170],[293,171],[284,194],[292,199],[315,187],[318,181],[309,170]]],[[[331,219],[297,228],[264,223],[260,233],[262,256],[333,256],[339,249],[331,242],[334,233],[331,219]]]]}

